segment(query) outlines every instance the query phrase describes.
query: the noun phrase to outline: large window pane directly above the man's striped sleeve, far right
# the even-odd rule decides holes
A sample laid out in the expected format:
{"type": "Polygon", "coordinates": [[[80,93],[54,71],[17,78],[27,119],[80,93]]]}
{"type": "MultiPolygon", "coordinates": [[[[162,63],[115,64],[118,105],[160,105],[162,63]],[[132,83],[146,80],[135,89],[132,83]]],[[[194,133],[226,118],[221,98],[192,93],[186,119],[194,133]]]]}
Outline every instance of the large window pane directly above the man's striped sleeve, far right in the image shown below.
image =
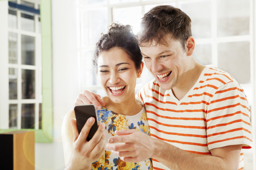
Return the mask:
{"type": "Polygon", "coordinates": [[[218,44],[218,68],[231,74],[239,84],[250,83],[250,42],[218,44]]]}

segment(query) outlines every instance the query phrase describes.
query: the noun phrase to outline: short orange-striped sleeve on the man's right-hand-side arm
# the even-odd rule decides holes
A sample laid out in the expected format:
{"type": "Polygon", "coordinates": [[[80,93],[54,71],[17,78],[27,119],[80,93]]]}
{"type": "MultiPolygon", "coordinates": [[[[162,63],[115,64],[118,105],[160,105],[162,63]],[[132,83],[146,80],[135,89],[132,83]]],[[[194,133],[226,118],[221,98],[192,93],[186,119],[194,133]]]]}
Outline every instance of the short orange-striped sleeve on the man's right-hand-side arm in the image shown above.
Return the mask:
{"type": "Polygon", "coordinates": [[[209,150],[243,144],[251,148],[250,108],[244,90],[236,82],[218,88],[206,112],[209,150]]]}

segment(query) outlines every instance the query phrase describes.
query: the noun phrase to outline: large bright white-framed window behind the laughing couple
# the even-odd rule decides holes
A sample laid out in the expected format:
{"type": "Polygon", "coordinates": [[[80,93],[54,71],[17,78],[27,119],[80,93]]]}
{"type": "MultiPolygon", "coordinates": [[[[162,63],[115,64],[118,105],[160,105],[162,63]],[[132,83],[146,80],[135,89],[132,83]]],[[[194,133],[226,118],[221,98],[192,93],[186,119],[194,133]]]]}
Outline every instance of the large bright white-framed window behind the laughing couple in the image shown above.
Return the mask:
{"type": "MultiPolygon", "coordinates": [[[[105,95],[91,63],[94,45],[100,33],[106,32],[106,25],[118,21],[132,25],[137,32],[142,15],[158,4],[178,7],[192,19],[192,35],[196,41],[193,57],[203,65],[212,64],[234,76],[246,93],[251,107],[252,128],[255,127],[253,0],[77,0],[81,92],[86,89],[105,95]]],[[[152,79],[145,68],[136,89],[152,79]]],[[[256,159],[253,149],[245,151],[244,169],[252,169],[252,155],[253,160],[256,159]]]]}

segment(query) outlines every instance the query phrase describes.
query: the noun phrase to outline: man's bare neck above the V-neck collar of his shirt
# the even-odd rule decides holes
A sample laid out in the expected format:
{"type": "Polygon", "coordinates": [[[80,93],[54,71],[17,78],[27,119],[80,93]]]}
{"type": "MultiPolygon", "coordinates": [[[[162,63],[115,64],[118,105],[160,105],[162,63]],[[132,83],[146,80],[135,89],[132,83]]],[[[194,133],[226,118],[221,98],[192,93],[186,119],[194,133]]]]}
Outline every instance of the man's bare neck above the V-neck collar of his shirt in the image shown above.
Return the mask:
{"type": "Polygon", "coordinates": [[[204,68],[205,66],[195,61],[194,67],[186,72],[183,81],[179,82],[179,84],[172,88],[172,93],[178,100],[181,100],[196,84],[196,81],[198,80],[204,68]]]}

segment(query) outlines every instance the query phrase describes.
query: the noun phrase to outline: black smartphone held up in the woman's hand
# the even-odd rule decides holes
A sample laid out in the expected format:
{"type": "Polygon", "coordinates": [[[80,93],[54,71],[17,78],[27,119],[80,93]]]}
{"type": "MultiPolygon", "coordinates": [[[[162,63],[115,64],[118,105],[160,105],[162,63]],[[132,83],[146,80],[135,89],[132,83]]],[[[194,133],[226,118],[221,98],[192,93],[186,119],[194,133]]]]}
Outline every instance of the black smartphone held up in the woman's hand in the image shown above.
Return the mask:
{"type": "Polygon", "coordinates": [[[93,135],[98,129],[97,116],[95,111],[95,106],[93,104],[85,104],[85,105],[77,105],[74,108],[76,115],[76,126],[78,130],[78,134],[80,134],[82,128],[84,127],[85,122],[90,118],[94,117],[95,122],[92,125],[92,128],[87,137],[87,141],[91,140],[93,135]]]}

